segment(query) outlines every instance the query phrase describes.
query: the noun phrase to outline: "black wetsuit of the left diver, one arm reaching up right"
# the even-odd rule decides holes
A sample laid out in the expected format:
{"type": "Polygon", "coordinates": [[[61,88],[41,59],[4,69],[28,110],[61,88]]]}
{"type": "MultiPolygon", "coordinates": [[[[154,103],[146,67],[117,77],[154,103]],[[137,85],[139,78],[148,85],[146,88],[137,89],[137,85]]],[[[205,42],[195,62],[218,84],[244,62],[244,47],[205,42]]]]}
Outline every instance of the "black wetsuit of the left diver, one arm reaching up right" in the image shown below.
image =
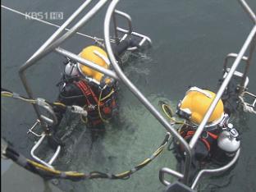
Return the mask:
{"type": "MultiPolygon", "coordinates": [[[[119,43],[112,49],[115,57],[117,58],[117,60],[119,60],[119,57],[121,57],[121,55],[126,52],[126,49],[131,47],[138,47],[138,42],[135,41],[134,39],[126,39],[124,41],[121,41],[121,43],[119,43]]],[[[76,85],[76,83],[80,82],[81,79],[82,78],[79,76],[71,77],[68,75],[63,75],[62,81],[58,84],[61,89],[60,89],[60,94],[57,98],[57,102],[64,103],[67,106],[78,105],[80,107],[84,107],[86,104],[88,104],[87,99],[89,99],[90,103],[97,106],[98,103],[96,103],[92,98],[86,98],[85,94],[76,85]]],[[[99,85],[96,85],[94,83],[90,83],[89,87],[90,89],[92,89],[92,91],[97,97],[99,96],[101,89],[103,88],[103,87],[100,88],[99,85]]],[[[113,106],[112,106],[113,100],[117,99],[117,82],[115,81],[111,86],[107,86],[107,88],[103,89],[103,92],[102,92],[102,98],[104,98],[107,96],[107,94],[110,94],[112,89],[115,89],[115,94],[112,94],[110,99],[105,101],[105,104],[107,106],[112,107],[110,110],[113,109],[113,106]]],[[[58,126],[59,123],[62,121],[63,114],[66,112],[66,110],[63,109],[62,107],[54,107],[54,112],[56,113],[56,116],[57,116],[57,120],[58,120],[57,126],[58,126]]],[[[110,112],[110,114],[107,114],[107,118],[111,118],[113,113],[114,112],[110,112]]],[[[104,112],[103,112],[103,115],[104,115],[104,112]]],[[[96,120],[98,121],[99,119],[98,116],[99,116],[98,109],[91,110],[88,113],[89,126],[98,126],[100,124],[100,123],[90,123],[92,121],[96,121],[96,120]]],[[[54,130],[56,130],[56,128],[54,130]]]]}

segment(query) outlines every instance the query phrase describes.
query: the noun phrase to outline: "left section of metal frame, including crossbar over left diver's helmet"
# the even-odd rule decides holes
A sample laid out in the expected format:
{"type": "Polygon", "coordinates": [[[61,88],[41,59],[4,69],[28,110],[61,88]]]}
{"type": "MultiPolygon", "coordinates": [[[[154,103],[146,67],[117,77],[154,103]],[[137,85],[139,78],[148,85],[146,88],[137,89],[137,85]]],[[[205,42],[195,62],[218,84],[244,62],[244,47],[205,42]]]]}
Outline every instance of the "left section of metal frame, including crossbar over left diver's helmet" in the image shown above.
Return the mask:
{"type": "MultiPolygon", "coordinates": [[[[85,66],[89,66],[90,68],[96,70],[96,71],[99,71],[105,75],[108,75],[116,80],[119,80],[119,77],[118,75],[114,72],[114,71],[111,71],[111,70],[107,70],[105,68],[103,68],[102,66],[98,66],[96,65],[94,62],[89,62],[88,60],[85,60],[84,58],[76,55],[75,53],[71,53],[63,48],[59,48],[58,46],[63,43],[64,41],[66,41],[67,39],[71,38],[71,36],[73,34],[75,34],[78,30],[80,30],[80,28],[82,26],[84,26],[87,21],[89,21],[107,2],[107,0],[99,0],[98,3],[96,3],[96,5],[94,5],[94,7],[92,7],[86,14],[85,16],[83,16],[80,21],[77,21],[75,23],[75,25],[70,29],[68,30],[65,34],[63,34],[62,36],[60,36],[62,34],[62,32],[64,30],[66,30],[66,26],[67,25],[70,25],[72,21],[74,21],[74,19],[80,15],[80,13],[82,11],[85,10],[85,7],[87,7],[89,5],[89,3],[92,2],[92,0],[87,0],[85,1],[60,27],[59,29],[56,30],[56,32],[45,42],[43,43],[43,45],[32,55],[32,57],[30,57],[30,59],[25,62],[24,65],[21,66],[20,70],[19,70],[19,75],[21,77],[21,81],[22,81],[22,84],[24,85],[25,87],[25,90],[28,94],[28,97],[29,98],[33,98],[33,92],[32,92],[32,89],[30,89],[30,85],[28,84],[27,80],[26,80],[26,76],[25,76],[25,71],[30,68],[30,66],[34,66],[35,64],[37,64],[37,62],[48,55],[48,53],[51,53],[51,52],[56,52],[58,54],[61,54],[62,56],[65,56],[65,57],[69,57],[71,58],[72,60],[75,60],[75,62],[80,62],[80,64],[82,65],[85,65],[85,66]]],[[[130,27],[130,32],[129,34],[132,33],[132,27],[131,27],[131,19],[130,19],[130,16],[128,14],[126,14],[125,12],[122,12],[122,11],[117,11],[117,15],[120,15],[120,16],[123,16],[125,17],[128,22],[129,22],[129,27],[130,27]]],[[[116,21],[115,21],[116,22],[116,21]]],[[[117,22],[116,22],[116,26],[115,26],[115,29],[117,31],[118,29],[118,26],[117,26],[117,22]]],[[[123,30],[123,29],[122,29],[123,30]]],[[[135,33],[135,32],[134,32],[135,33]]],[[[135,34],[135,36],[138,36],[135,34]]],[[[143,43],[148,40],[149,43],[151,43],[151,40],[149,39],[149,37],[143,35],[143,34],[140,34],[141,38],[143,38],[143,43]],[[144,40],[146,39],[146,40],[144,40]]],[[[139,43],[139,45],[142,45],[143,43],[139,43]]],[[[53,125],[53,124],[56,124],[57,123],[57,118],[55,117],[54,115],[54,112],[52,110],[51,107],[43,104],[40,99],[38,99],[38,103],[36,104],[33,104],[34,106],[34,110],[39,118],[39,120],[37,120],[35,123],[34,123],[34,126],[32,126],[30,128],[30,130],[28,130],[28,134],[29,133],[32,133],[33,135],[37,136],[37,137],[40,137],[39,141],[34,145],[34,147],[31,149],[31,156],[38,162],[41,162],[43,163],[45,166],[48,166],[48,167],[53,167],[52,166],[52,163],[55,161],[55,159],[57,158],[58,154],[60,153],[60,150],[61,150],[61,146],[57,146],[57,149],[56,149],[56,152],[54,153],[53,155],[53,158],[51,158],[51,160],[49,162],[44,162],[42,159],[40,159],[39,157],[37,157],[35,154],[34,154],[34,151],[36,149],[39,148],[39,145],[42,144],[43,142],[43,139],[48,136],[50,134],[50,128],[49,128],[49,124],[50,125],[53,125]],[[44,109],[46,109],[53,117],[53,120],[48,118],[48,117],[45,117],[41,114],[40,110],[39,110],[39,106],[40,107],[43,107],[44,109]],[[35,133],[33,130],[34,130],[34,127],[35,126],[38,126],[39,123],[41,124],[41,126],[43,126],[43,133],[42,134],[37,134],[35,133]]]]}

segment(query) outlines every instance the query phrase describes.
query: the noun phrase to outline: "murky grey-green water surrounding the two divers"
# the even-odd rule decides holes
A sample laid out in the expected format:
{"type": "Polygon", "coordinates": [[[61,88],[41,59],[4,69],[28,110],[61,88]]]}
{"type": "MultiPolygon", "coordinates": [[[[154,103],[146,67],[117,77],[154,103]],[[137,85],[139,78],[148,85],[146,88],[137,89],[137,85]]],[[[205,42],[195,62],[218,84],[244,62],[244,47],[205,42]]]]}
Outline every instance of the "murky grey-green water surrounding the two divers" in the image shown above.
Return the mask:
{"type": "MultiPolygon", "coordinates": [[[[248,1],[256,11],[256,2],[248,1]]],[[[19,11],[63,11],[64,19],[80,5],[80,1],[15,1],[2,4],[19,11]]],[[[158,107],[162,98],[175,107],[189,85],[217,90],[217,80],[222,75],[222,63],[227,53],[237,53],[244,43],[252,24],[236,1],[121,1],[119,8],[133,18],[135,30],[148,34],[153,47],[126,68],[126,75],[143,94],[158,107]]],[[[101,12],[81,31],[102,36],[101,12]]],[[[61,24],[63,21],[54,21],[61,24]]],[[[2,10],[2,87],[25,94],[18,77],[18,69],[48,37],[55,28],[2,10]]],[[[79,53],[92,43],[75,36],[63,45],[79,53]]],[[[51,54],[32,67],[30,85],[36,97],[54,100],[60,79],[63,58],[51,54]]],[[[256,92],[255,58],[250,68],[249,89],[256,92]]],[[[79,171],[110,171],[118,173],[129,170],[148,158],[165,135],[165,129],[139,101],[121,85],[120,121],[107,126],[103,134],[92,134],[79,121],[73,119],[63,129],[74,127],[66,140],[66,148],[58,167],[79,171]]],[[[33,139],[26,135],[34,123],[32,107],[25,103],[2,99],[1,133],[29,157],[33,139]]],[[[204,191],[255,191],[256,155],[253,147],[255,116],[244,115],[236,119],[235,126],[242,132],[239,161],[224,176],[205,179],[204,191]],[[207,186],[208,185],[208,186],[207,186]]],[[[49,153],[49,152],[45,152],[49,153]]],[[[162,191],[165,187],[158,179],[162,167],[176,167],[171,152],[165,150],[149,166],[130,176],[126,181],[58,181],[64,191],[162,191]]]]}

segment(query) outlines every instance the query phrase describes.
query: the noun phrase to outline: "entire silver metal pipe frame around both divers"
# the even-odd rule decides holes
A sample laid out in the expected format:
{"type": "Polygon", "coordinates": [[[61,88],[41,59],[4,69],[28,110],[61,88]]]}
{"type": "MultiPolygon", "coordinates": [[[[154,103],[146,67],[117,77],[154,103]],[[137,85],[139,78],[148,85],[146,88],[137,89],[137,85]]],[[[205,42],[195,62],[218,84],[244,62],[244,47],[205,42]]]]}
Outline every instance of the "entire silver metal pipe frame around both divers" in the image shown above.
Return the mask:
{"type": "MultiPolygon", "coordinates": [[[[32,57],[30,57],[30,59],[27,62],[25,62],[25,64],[23,66],[21,66],[19,74],[21,76],[21,81],[22,81],[22,83],[25,87],[25,90],[26,90],[29,98],[33,98],[33,93],[32,93],[32,90],[30,89],[30,85],[28,84],[28,82],[26,80],[25,71],[30,66],[33,66],[42,57],[45,57],[46,55],[48,55],[48,53],[51,53],[53,51],[55,51],[56,53],[59,53],[61,55],[64,55],[66,57],[70,57],[71,59],[74,59],[76,62],[80,62],[85,66],[89,66],[89,67],[93,68],[94,70],[102,72],[106,75],[109,75],[109,76],[111,76],[111,77],[113,77],[117,80],[121,80],[128,87],[128,89],[130,89],[130,91],[133,94],[135,94],[135,96],[149,110],[149,112],[152,113],[153,117],[155,117],[162,124],[162,126],[164,126],[165,129],[168,132],[170,132],[171,135],[180,142],[180,144],[185,149],[185,168],[184,168],[183,172],[180,173],[180,172],[168,169],[168,168],[162,168],[161,171],[159,172],[160,181],[162,181],[162,183],[164,185],[169,185],[170,184],[170,182],[164,180],[164,174],[167,173],[167,174],[171,174],[172,176],[176,176],[185,185],[188,185],[189,174],[190,174],[190,165],[191,165],[191,159],[193,158],[194,145],[196,144],[197,140],[199,139],[199,136],[201,135],[201,133],[203,131],[203,128],[206,126],[208,118],[211,116],[214,108],[217,105],[218,100],[222,97],[222,94],[223,94],[224,90],[226,89],[226,86],[228,85],[229,81],[231,80],[232,75],[234,75],[235,69],[240,64],[240,61],[244,58],[246,49],[249,47],[249,44],[251,43],[251,41],[255,37],[255,34],[256,34],[256,16],[255,16],[254,12],[249,8],[249,6],[245,2],[245,0],[239,0],[242,7],[248,13],[250,19],[252,19],[252,21],[254,21],[254,27],[251,30],[251,32],[249,33],[248,38],[245,40],[244,45],[240,49],[240,53],[238,53],[235,56],[235,62],[233,62],[230,71],[228,71],[225,80],[223,81],[220,89],[217,91],[216,98],[213,100],[213,103],[208,108],[208,112],[204,116],[203,121],[199,125],[199,128],[196,130],[193,138],[190,140],[190,144],[188,144],[185,141],[185,139],[183,139],[181,137],[181,135],[170,125],[170,123],[164,117],[162,117],[161,113],[158,112],[158,110],[155,107],[153,107],[153,105],[149,102],[149,100],[144,97],[144,94],[139,92],[139,89],[137,89],[135,87],[135,85],[133,85],[130,82],[130,80],[126,77],[126,75],[123,73],[123,71],[121,71],[121,68],[117,63],[116,58],[114,57],[114,54],[112,52],[111,43],[110,43],[110,22],[111,22],[112,18],[113,18],[113,21],[114,21],[116,36],[117,36],[117,31],[119,31],[119,32],[124,34],[124,36],[121,39],[126,39],[126,37],[129,34],[133,34],[137,37],[142,38],[142,40],[139,44],[143,44],[145,41],[148,41],[149,43],[151,43],[151,40],[147,36],[145,36],[143,34],[138,34],[138,33],[135,33],[135,32],[132,31],[131,19],[130,19],[129,15],[127,15],[126,13],[123,13],[121,11],[116,10],[117,3],[119,2],[119,0],[112,0],[111,1],[111,3],[109,4],[109,6],[107,8],[105,21],[104,21],[105,46],[106,46],[106,49],[107,49],[107,55],[108,55],[110,61],[112,62],[112,66],[113,66],[114,71],[106,70],[103,67],[97,66],[94,63],[89,62],[89,61],[75,55],[74,53],[68,52],[63,48],[58,48],[58,46],[61,43],[66,41],[66,39],[69,39],[71,37],[71,35],[73,35],[73,34],[75,34],[75,32],[77,32],[77,30],[80,30],[80,28],[83,25],[85,25],[86,22],[89,21],[106,4],[107,0],[99,0],[96,3],[96,5],[93,8],[91,8],[89,10],[89,12],[87,12],[85,14],[85,16],[83,16],[80,19],[80,21],[75,23],[75,25],[71,28],[71,30],[67,31],[65,34],[63,34],[61,37],[59,37],[60,34],[63,32],[63,30],[65,30],[66,26],[70,25],[71,21],[73,21],[80,14],[80,12],[83,11],[85,9],[85,7],[87,7],[89,5],[90,2],[91,2],[91,0],[87,0],[86,2],[84,2],[67,19],[67,21],[65,21],[63,23],[63,25],[45,43],[43,43],[43,45],[34,53],[34,55],[32,57]],[[124,29],[119,28],[117,26],[116,15],[124,16],[127,19],[128,25],[129,25],[129,30],[124,30],[124,29]]],[[[38,115],[39,120],[43,122],[43,119],[40,117],[39,107],[34,105],[34,110],[35,110],[36,114],[38,115]]],[[[47,134],[48,128],[46,126],[45,126],[45,130],[46,130],[46,134],[47,134]]],[[[202,176],[204,172],[219,172],[219,171],[224,171],[227,168],[231,167],[233,162],[235,163],[235,161],[237,160],[237,158],[239,156],[239,153],[240,153],[240,151],[238,151],[236,153],[235,158],[229,164],[227,164],[225,167],[221,167],[217,170],[212,170],[212,171],[208,171],[208,170],[200,171],[199,175],[197,176],[196,180],[194,181],[193,187],[195,187],[196,183],[199,181],[199,177],[202,176]]],[[[55,157],[55,155],[54,155],[54,157],[55,157]]],[[[52,161],[50,161],[50,162],[52,162],[52,161]]]]}

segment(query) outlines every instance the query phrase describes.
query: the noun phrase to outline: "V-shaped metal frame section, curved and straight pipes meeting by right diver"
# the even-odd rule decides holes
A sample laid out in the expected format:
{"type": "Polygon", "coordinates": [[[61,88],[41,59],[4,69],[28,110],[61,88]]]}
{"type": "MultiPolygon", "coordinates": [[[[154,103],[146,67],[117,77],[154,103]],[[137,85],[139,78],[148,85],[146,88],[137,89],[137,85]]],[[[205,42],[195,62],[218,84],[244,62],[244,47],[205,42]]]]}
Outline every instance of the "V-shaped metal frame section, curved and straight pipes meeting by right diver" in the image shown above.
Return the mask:
{"type": "MultiPolygon", "coordinates": [[[[199,125],[199,128],[196,130],[196,132],[188,146],[185,139],[181,138],[181,135],[179,135],[176,132],[176,130],[174,130],[173,127],[171,127],[171,125],[164,118],[162,118],[161,114],[152,106],[151,103],[149,103],[149,100],[147,98],[145,98],[144,95],[139,92],[139,89],[137,89],[135,87],[135,85],[133,85],[130,82],[130,80],[126,77],[126,75],[121,71],[121,68],[118,66],[118,64],[115,60],[114,54],[112,53],[110,39],[109,39],[109,25],[110,25],[112,14],[115,10],[115,7],[117,6],[117,2],[118,2],[118,0],[113,0],[112,3],[110,4],[110,6],[108,7],[107,14],[105,17],[105,22],[104,22],[104,38],[105,38],[105,44],[106,44],[108,56],[112,62],[112,66],[113,66],[114,70],[116,71],[117,75],[120,77],[121,81],[130,89],[130,91],[133,94],[135,94],[135,96],[137,98],[139,98],[139,101],[141,103],[143,103],[145,107],[148,108],[149,112],[151,112],[153,114],[153,116],[158,119],[158,121],[162,124],[162,126],[164,126],[167,129],[167,131],[170,132],[181,143],[181,145],[183,145],[183,147],[185,149],[186,155],[185,155],[184,173],[182,174],[180,172],[177,172],[177,171],[174,171],[171,169],[163,168],[160,171],[160,175],[159,175],[160,181],[162,181],[162,183],[164,185],[169,185],[170,183],[168,181],[165,181],[164,176],[163,176],[164,173],[169,173],[173,176],[178,177],[179,179],[181,179],[181,181],[183,181],[183,183],[187,184],[189,173],[190,173],[190,162],[191,162],[191,158],[192,158],[192,150],[194,148],[194,145],[196,144],[197,140],[199,139],[199,136],[202,134],[203,128],[206,126],[209,117],[212,115],[213,110],[216,107],[218,100],[222,97],[222,94],[223,94],[224,90],[226,89],[226,86],[228,85],[229,81],[231,80],[232,75],[235,73],[235,69],[240,64],[241,59],[245,55],[246,49],[249,47],[249,44],[253,40],[254,35],[256,34],[256,25],[254,25],[254,28],[253,28],[253,30],[251,30],[248,38],[245,41],[245,44],[243,45],[243,47],[240,50],[240,53],[235,58],[235,62],[231,66],[230,71],[227,73],[226,79],[223,81],[220,89],[217,91],[216,98],[213,99],[213,103],[208,108],[208,112],[203,117],[203,121],[199,125]]],[[[245,7],[245,10],[247,10],[246,8],[248,8],[249,6],[246,4],[246,2],[243,0],[240,0],[240,3],[243,5],[243,7],[245,7]]],[[[249,15],[252,18],[254,18],[254,16],[255,16],[254,12],[251,10],[247,10],[247,11],[249,12],[249,15]]],[[[236,154],[237,155],[235,157],[238,158],[239,153],[236,153],[236,154]]],[[[237,158],[235,158],[234,161],[236,161],[237,158]]],[[[230,165],[230,164],[228,164],[228,165],[230,165]]],[[[227,165],[227,167],[229,167],[228,165],[227,165]]],[[[225,168],[226,167],[224,167],[224,168],[222,167],[220,169],[223,170],[225,168]]],[[[218,170],[215,170],[215,171],[213,170],[213,172],[218,172],[218,170]]]]}

